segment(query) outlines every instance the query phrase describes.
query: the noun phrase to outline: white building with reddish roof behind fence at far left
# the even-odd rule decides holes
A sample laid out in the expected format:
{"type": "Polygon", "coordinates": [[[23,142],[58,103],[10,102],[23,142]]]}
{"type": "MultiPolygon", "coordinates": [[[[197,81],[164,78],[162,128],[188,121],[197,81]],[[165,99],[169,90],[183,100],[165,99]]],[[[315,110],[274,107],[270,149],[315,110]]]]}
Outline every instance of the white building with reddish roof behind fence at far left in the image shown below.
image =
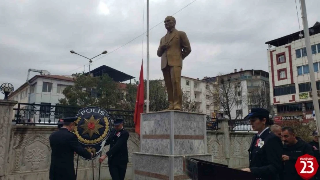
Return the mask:
{"type": "MultiPolygon", "coordinates": [[[[51,109],[52,106],[59,105],[59,100],[65,98],[62,94],[64,88],[68,85],[74,84],[74,78],[72,76],[62,75],[35,75],[28,82],[22,84],[17,90],[15,90],[8,97],[9,100],[18,101],[18,104],[14,108],[19,109],[32,109],[39,107],[39,113],[28,115],[23,113],[21,119],[37,120],[43,118],[44,121],[58,121],[60,119],[59,114],[55,115],[55,109],[51,109]],[[25,103],[25,104],[23,104],[25,103]],[[44,106],[28,106],[27,104],[44,105],[44,106]],[[47,105],[47,106],[45,106],[47,105]],[[55,120],[54,120],[55,119],[55,120]]],[[[16,114],[17,112],[15,112],[16,114]]],[[[16,118],[16,117],[15,117],[16,118]]]]}

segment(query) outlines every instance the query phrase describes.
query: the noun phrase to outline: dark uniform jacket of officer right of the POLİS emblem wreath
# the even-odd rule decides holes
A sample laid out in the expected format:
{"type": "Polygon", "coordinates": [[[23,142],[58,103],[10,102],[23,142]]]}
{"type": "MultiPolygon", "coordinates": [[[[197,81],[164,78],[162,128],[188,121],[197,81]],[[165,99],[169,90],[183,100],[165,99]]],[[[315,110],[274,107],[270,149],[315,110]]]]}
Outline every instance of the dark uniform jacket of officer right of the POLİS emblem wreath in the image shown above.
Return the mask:
{"type": "Polygon", "coordinates": [[[110,137],[107,139],[106,145],[110,145],[108,156],[108,164],[127,164],[129,133],[122,128],[119,132],[116,129],[111,130],[110,137]]]}

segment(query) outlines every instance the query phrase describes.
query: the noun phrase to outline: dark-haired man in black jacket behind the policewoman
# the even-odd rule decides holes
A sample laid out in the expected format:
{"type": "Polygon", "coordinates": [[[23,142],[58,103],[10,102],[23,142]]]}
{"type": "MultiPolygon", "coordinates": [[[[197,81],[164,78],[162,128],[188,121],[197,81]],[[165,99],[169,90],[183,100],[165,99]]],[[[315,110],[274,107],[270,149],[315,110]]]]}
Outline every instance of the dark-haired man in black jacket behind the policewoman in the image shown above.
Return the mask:
{"type": "Polygon", "coordinates": [[[283,178],[284,180],[302,180],[297,173],[295,164],[298,157],[304,154],[313,156],[312,148],[308,143],[296,137],[291,127],[282,128],[282,140],[284,142],[284,154],[282,155],[283,178]]]}

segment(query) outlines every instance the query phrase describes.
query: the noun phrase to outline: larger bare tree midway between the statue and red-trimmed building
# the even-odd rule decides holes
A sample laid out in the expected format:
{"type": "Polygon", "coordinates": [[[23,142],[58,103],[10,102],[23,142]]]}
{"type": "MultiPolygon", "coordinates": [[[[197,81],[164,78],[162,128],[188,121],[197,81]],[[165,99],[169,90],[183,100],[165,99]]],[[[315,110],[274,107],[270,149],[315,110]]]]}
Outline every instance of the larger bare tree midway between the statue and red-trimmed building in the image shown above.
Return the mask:
{"type": "Polygon", "coordinates": [[[218,83],[213,86],[213,89],[209,90],[209,96],[212,99],[212,103],[215,106],[219,106],[221,110],[231,120],[231,110],[236,108],[236,119],[242,118],[242,109],[246,106],[245,97],[243,95],[243,87],[241,81],[231,79],[227,75],[220,74],[218,83]]]}

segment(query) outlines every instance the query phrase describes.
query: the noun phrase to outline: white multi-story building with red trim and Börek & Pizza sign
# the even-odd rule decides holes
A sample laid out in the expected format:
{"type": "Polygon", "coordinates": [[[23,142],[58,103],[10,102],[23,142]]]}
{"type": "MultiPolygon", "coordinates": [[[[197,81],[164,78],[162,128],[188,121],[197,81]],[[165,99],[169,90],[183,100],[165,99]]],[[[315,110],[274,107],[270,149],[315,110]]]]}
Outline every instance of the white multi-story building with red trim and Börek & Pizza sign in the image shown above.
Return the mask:
{"type": "MultiPolygon", "coordinates": [[[[309,28],[317,90],[320,90],[320,23],[309,28]]],[[[303,31],[266,42],[275,120],[313,120],[313,103],[303,31]]],[[[319,94],[318,94],[319,97],[319,94]]]]}

